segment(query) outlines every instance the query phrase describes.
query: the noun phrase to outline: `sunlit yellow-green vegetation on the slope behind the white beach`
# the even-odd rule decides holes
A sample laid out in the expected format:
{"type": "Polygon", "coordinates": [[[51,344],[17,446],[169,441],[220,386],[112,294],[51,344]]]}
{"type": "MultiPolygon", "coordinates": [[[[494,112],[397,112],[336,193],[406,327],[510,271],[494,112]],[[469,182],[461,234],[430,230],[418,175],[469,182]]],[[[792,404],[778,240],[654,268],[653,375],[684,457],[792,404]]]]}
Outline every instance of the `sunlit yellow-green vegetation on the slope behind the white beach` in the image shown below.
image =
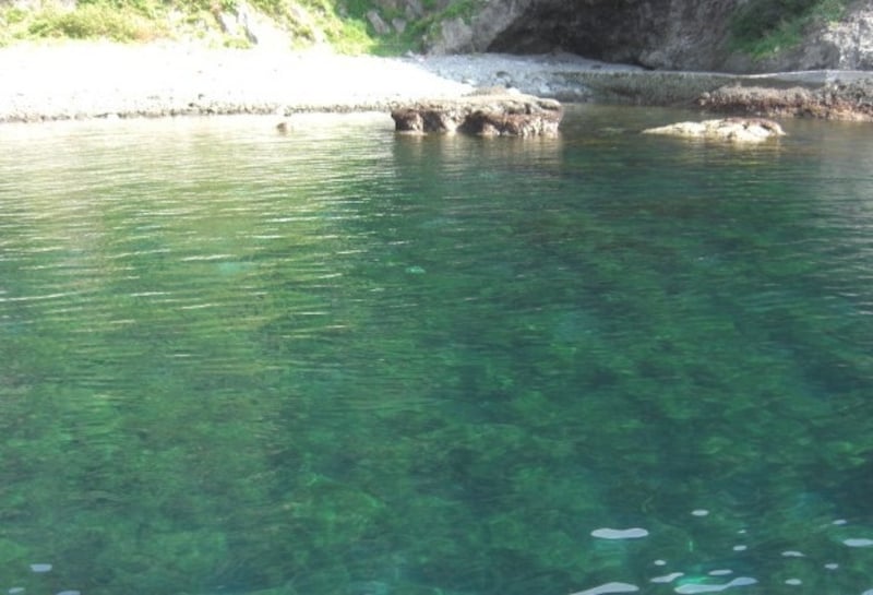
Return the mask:
{"type": "Polygon", "coordinates": [[[213,46],[248,47],[244,32],[229,32],[222,22],[254,12],[287,37],[288,47],[326,44],[345,53],[396,55],[418,49],[434,23],[470,14],[473,2],[461,0],[422,8],[410,16],[397,5],[369,0],[80,0],[28,8],[0,3],[0,46],[21,40],[73,38],[113,41],[199,39],[213,46]],[[378,32],[368,19],[390,23],[378,32]]]}

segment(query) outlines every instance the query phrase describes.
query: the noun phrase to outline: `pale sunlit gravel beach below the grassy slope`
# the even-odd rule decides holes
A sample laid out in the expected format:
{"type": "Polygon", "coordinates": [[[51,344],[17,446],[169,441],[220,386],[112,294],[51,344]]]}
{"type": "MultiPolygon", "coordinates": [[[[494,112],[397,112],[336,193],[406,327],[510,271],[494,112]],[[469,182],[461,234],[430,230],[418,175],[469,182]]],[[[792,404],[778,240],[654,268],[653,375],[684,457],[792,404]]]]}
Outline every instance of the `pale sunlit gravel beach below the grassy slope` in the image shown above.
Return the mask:
{"type": "Polygon", "coordinates": [[[387,110],[514,86],[584,98],[569,72],[629,70],[570,55],[404,58],[68,41],[0,48],[0,122],[387,110]]]}

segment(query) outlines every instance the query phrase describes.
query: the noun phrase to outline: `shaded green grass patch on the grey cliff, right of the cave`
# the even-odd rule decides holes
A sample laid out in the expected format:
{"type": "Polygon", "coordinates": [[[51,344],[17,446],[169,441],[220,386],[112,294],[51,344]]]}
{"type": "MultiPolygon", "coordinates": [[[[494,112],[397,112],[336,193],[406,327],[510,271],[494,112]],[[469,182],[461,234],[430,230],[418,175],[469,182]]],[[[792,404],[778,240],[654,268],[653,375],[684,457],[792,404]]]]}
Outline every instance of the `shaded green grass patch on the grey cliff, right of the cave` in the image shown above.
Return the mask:
{"type": "Polygon", "coordinates": [[[751,0],[730,23],[731,49],[755,59],[797,47],[813,25],[837,21],[847,0],[751,0]]]}

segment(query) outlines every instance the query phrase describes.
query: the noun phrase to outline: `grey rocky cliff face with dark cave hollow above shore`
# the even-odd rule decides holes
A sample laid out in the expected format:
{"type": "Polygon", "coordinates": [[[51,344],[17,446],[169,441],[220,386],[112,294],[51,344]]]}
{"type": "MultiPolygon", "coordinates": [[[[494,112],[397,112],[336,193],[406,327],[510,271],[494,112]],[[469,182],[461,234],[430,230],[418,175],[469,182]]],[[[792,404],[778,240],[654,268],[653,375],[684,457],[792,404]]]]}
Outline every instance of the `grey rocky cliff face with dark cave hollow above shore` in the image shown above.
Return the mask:
{"type": "Polygon", "coordinates": [[[873,8],[850,5],[836,24],[766,60],[730,49],[731,16],[748,0],[490,0],[443,24],[433,52],[570,51],[663,70],[765,72],[873,69],[873,8]]]}

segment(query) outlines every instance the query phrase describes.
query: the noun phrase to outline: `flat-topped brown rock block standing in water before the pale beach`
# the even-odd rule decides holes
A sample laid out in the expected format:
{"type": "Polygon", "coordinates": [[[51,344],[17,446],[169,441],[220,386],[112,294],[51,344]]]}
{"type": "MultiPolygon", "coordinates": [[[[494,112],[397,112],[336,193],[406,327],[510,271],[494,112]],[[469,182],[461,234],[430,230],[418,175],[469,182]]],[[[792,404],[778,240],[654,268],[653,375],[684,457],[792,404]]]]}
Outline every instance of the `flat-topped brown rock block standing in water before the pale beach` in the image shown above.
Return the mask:
{"type": "Polygon", "coordinates": [[[416,102],[393,109],[391,117],[397,132],[411,134],[548,136],[558,134],[563,108],[555,99],[487,90],[458,98],[416,102]]]}

